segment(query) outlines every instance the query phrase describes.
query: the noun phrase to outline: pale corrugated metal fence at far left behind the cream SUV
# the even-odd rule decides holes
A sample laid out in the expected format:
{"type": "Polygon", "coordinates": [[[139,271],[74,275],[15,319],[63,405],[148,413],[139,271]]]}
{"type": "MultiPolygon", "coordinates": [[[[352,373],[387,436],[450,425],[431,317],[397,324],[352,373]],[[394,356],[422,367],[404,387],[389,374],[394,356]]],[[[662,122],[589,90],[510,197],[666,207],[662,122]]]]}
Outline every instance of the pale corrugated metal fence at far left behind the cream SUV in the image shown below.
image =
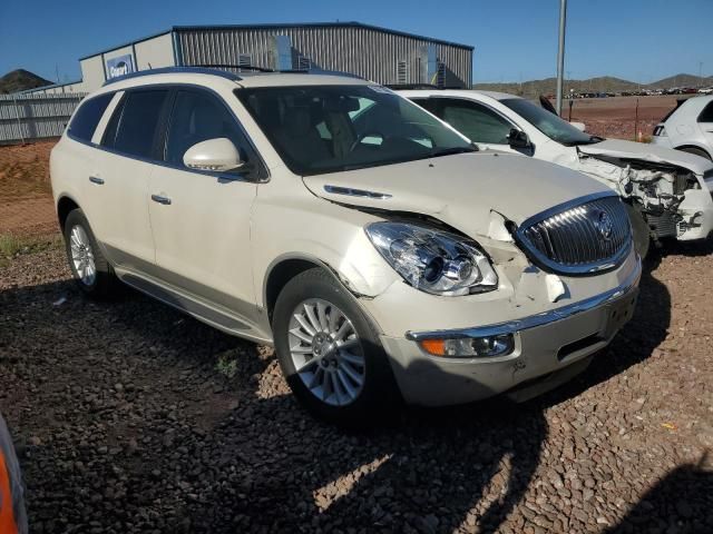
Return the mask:
{"type": "Polygon", "coordinates": [[[0,95],[0,145],[61,136],[85,96],[0,95]]]}

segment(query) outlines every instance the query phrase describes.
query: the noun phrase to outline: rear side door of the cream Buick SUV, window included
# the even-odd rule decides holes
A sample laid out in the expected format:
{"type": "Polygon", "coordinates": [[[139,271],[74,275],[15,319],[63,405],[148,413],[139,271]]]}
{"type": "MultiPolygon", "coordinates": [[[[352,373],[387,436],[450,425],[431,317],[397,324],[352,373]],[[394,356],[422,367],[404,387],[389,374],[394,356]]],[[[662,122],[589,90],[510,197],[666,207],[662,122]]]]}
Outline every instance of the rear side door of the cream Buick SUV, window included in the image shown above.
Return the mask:
{"type": "Polygon", "coordinates": [[[155,264],[148,218],[148,180],[156,165],[168,89],[126,91],[109,119],[92,187],[101,195],[92,228],[111,261],[150,273],[155,264]],[[96,221],[96,222],[95,222],[96,221]]]}

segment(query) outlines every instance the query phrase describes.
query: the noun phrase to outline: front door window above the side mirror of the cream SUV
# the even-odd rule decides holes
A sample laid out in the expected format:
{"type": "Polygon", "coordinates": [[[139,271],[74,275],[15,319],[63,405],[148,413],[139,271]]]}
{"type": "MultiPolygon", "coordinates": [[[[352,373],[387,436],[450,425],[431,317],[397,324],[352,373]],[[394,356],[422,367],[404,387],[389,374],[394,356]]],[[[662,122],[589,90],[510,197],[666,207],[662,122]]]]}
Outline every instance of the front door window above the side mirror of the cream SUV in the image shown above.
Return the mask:
{"type": "Polygon", "coordinates": [[[241,156],[246,157],[245,137],[217,98],[203,91],[178,91],[168,127],[166,161],[183,165],[186,150],[218,137],[233,141],[241,156]]]}

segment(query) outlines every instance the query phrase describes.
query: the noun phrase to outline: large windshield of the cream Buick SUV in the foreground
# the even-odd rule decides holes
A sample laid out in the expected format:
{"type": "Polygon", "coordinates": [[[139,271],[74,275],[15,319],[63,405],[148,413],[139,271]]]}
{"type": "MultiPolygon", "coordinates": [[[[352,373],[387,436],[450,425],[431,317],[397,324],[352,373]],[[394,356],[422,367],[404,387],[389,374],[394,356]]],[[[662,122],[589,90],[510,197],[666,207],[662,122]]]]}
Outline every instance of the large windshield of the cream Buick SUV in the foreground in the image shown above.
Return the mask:
{"type": "Polygon", "coordinates": [[[380,86],[235,91],[290,169],[302,176],[470,152],[470,142],[380,86]]]}

